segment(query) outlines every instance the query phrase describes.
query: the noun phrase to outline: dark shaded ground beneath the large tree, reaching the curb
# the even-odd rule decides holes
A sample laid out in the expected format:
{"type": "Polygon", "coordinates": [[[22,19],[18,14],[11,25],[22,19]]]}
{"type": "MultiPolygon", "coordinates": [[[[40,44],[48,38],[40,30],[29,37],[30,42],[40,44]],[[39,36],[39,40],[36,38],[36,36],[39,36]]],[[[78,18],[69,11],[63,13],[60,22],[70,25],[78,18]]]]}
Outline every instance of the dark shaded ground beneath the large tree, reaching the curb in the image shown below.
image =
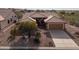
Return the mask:
{"type": "Polygon", "coordinates": [[[34,43],[33,38],[28,40],[28,38],[23,39],[23,37],[21,37],[17,42],[10,44],[10,50],[36,50],[38,46],[38,44],[34,43]]]}

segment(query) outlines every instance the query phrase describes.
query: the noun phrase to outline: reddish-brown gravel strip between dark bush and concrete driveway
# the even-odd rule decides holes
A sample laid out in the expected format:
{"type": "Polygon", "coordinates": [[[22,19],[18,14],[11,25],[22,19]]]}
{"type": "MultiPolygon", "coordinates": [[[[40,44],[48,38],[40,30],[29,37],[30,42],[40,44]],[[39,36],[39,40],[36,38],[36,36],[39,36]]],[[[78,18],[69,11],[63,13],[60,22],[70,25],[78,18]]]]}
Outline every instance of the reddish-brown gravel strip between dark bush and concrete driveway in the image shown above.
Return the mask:
{"type": "Polygon", "coordinates": [[[41,32],[40,47],[55,47],[50,32],[44,29],[39,30],[41,32]]]}

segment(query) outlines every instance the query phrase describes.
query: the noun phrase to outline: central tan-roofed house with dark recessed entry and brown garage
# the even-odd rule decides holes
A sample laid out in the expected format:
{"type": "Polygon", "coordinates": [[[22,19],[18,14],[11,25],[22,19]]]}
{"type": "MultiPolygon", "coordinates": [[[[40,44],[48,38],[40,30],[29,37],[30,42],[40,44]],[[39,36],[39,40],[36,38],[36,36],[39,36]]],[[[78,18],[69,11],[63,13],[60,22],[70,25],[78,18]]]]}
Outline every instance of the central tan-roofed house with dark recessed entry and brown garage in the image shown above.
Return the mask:
{"type": "MultiPolygon", "coordinates": [[[[26,13],[27,14],[27,13],[26,13]]],[[[28,14],[27,14],[28,15],[28,14]]],[[[38,27],[46,27],[47,29],[64,30],[66,22],[58,18],[55,14],[50,12],[34,12],[29,13],[31,19],[37,22],[38,27]]]]}

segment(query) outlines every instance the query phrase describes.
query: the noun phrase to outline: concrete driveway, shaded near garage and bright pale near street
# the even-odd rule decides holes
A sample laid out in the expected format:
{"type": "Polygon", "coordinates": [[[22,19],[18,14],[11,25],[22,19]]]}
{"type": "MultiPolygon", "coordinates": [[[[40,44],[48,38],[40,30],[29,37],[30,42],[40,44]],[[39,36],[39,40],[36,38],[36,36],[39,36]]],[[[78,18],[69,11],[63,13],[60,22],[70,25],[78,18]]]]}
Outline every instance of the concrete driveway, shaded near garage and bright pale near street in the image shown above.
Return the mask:
{"type": "Polygon", "coordinates": [[[78,47],[71,37],[62,30],[51,30],[50,34],[56,47],[78,47]]]}

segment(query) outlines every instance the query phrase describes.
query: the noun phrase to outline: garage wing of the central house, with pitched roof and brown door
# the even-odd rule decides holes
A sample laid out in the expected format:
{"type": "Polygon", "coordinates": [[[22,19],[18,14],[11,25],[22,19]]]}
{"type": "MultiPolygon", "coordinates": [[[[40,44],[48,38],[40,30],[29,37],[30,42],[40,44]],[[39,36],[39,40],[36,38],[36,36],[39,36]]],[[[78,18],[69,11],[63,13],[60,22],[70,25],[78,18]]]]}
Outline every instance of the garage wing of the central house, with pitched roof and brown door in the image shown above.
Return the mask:
{"type": "Polygon", "coordinates": [[[49,16],[46,20],[47,29],[53,29],[53,30],[64,30],[65,29],[65,24],[66,22],[63,21],[62,19],[59,19],[55,16],[49,16]]]}

